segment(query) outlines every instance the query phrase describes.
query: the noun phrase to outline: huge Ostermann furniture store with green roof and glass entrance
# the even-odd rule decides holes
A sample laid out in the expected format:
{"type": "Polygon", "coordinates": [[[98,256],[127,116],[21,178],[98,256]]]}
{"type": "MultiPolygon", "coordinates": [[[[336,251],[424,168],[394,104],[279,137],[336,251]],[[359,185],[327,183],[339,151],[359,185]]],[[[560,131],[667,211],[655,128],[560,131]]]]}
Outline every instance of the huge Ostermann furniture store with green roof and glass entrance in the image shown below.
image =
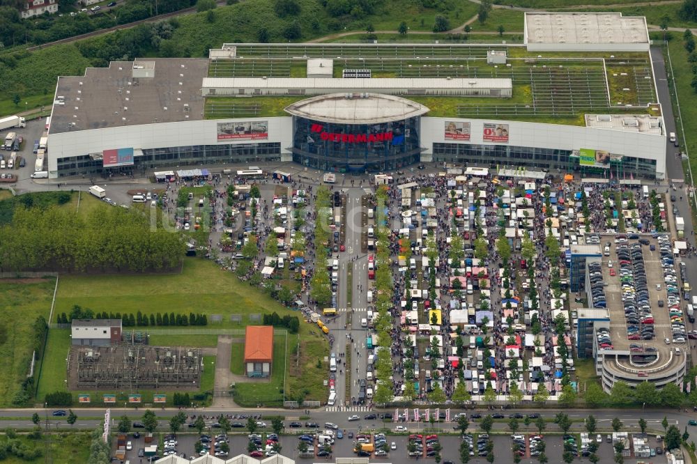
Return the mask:
{"type": "Polygon", "coordinates": [[[49,176],[267,161],[664,178],[643,18],[528,13],[525,27],[523,45],[225,44],[60,77],[49,176]]]}

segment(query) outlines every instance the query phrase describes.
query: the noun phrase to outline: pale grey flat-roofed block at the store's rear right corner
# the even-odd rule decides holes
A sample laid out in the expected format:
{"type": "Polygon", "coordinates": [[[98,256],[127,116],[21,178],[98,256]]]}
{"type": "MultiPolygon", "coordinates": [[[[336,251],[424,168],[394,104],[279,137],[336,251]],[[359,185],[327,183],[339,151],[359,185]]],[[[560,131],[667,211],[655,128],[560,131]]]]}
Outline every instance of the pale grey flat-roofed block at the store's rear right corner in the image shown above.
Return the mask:
{"type": "Polygon", "coordinates": [[[646,43],[643,16],[622,13],[526,13],[526,43],[646,43]]]}

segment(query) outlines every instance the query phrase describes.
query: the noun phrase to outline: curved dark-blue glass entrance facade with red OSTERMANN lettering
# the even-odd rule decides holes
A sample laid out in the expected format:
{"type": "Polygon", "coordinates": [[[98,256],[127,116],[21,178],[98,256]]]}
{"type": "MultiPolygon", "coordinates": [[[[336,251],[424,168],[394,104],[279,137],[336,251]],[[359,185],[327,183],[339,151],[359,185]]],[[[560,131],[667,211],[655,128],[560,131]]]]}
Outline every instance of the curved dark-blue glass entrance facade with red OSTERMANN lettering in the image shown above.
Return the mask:
{"type": "Polygon", "coordinates": [[[293,161],[337,172],[378,172],[419,162],[420,116],[372,124],[293,116],[293,161]]]}

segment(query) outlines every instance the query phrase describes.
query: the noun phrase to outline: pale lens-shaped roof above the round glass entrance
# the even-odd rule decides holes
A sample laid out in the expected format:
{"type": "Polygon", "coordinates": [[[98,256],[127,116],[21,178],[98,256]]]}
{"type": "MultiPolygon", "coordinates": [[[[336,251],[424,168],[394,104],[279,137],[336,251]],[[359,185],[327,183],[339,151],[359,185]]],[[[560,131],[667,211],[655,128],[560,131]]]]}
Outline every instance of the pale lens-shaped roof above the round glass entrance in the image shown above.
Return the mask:
{"type": "Polygon", "coordinates": [[[420,103],[382,93],[331,93],[295,102],[286,111],[295,116],[325,123],[384,123],[426,114],[429,109],[420,103]]]}

